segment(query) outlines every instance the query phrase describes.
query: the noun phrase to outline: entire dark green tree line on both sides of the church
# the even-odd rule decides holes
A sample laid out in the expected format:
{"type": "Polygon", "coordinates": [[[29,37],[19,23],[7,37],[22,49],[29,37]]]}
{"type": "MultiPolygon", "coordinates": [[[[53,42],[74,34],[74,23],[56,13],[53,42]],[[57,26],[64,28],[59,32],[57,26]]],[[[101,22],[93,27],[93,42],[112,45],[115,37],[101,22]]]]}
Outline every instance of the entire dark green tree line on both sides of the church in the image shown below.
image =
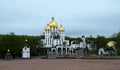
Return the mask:
{"type": "MultiPolygon", "coordinates": [[[[4,58],[7,50],[9,49],[13,58],[21,57],[22,48],[24,47],[25,40],[28,40],[28,44],[31,48],[31,56],[44,55],[43,44],[41,42],[40,36],[27,36],[27,35],[15,35],[10,33],[7,35],[0,35],[0,58],[4,58]]],[[[69,38],[69,41],[80,40],[81,38],[69,38]]],[[[97,36],[93,38],[92,36],[87,37],[87,40],[94,41],[97,45],[97,50],[101,47],[105,47],[109,41],[115,41],[117,43],[116,48],[118,54],[120,55],[120,32],[116,33],[114,36],[106,38],[104,36],[97,36]]],[[[96,51],[97,53],[97,51],[96,51]]]]}

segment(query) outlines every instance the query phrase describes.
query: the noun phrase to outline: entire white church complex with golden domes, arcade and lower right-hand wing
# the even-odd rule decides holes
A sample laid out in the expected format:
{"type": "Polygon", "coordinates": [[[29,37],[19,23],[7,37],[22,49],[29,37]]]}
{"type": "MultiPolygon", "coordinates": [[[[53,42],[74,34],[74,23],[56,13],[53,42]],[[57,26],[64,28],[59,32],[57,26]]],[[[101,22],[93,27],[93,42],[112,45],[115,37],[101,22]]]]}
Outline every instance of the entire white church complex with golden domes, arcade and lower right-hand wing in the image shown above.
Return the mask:
{"type": "Polygon", "coordinates": [[[75,49],[82,48],[85,49],[86,46],[90,46],[87,44],[85,37],[82,37],[82,41],[71,41],[69,44],[69,37],[65,36],[65,29],[62,26],[58,26],[54,17],[52,20],[46,25],[43,31],[43,35],[41,35],[41,41],[43,42],[44,48],[49,49],[47,53],[57,54],[57,55],[68,55],[75,52],[75,49]]]}

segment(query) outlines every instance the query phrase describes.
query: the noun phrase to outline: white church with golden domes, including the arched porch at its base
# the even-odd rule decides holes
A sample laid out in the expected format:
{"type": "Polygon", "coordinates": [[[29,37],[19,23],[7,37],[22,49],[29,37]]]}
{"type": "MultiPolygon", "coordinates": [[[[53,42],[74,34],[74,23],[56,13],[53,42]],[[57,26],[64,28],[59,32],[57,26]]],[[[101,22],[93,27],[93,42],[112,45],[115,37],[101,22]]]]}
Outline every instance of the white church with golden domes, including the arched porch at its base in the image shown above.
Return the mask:
{"type": "Polygon", "coordinates": [[[50,48],[51,52],[57,54],[68,54],[71,50],[68,37],[65,36],[65,29],[62,26],[58,26],[54,17],[49,24],[46,25],[43,35],[41,36],[41,41],[45,48],[50,48]]]}

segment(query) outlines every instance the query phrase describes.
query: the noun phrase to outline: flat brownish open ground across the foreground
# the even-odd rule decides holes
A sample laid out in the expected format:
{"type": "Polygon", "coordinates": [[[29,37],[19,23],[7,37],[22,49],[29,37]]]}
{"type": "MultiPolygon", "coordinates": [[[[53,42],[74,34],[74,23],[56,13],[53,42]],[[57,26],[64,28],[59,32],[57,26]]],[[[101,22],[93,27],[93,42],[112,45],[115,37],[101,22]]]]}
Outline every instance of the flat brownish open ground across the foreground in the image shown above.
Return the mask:
{"type": "Polygon", "coordinates": [[[0,60],[0,70],[120,70],[120,60],[118,59],[0,60]]]}

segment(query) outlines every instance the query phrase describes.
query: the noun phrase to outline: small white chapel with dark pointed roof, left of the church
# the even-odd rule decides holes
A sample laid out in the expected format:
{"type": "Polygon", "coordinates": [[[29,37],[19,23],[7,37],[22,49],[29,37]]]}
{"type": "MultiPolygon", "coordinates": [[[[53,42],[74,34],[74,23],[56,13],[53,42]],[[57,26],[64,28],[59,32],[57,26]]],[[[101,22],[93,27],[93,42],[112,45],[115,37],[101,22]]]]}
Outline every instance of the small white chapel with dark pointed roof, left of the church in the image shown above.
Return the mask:
{"type": "Polygon", "coordinates": [[[25,46],[22,49],[22,58],[30,58],[30,47],[25,40],[25,46]]]}

